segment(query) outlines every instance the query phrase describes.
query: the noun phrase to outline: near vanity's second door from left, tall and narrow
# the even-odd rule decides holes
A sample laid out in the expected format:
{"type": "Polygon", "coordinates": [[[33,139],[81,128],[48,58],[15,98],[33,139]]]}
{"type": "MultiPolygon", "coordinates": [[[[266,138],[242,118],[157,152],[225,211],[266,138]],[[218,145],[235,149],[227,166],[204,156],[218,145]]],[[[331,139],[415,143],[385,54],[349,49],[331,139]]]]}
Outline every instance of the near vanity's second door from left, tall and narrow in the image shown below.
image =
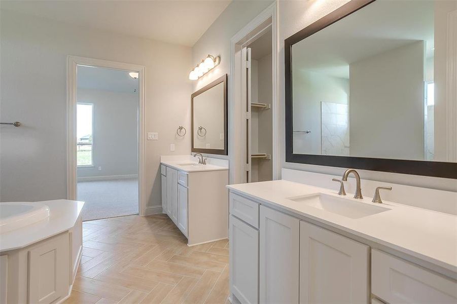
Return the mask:
{"type": "Polygon", "coordinates": [[[260,303],[298,303],[299,242],[298,218],[260,206],[260,303]]]}

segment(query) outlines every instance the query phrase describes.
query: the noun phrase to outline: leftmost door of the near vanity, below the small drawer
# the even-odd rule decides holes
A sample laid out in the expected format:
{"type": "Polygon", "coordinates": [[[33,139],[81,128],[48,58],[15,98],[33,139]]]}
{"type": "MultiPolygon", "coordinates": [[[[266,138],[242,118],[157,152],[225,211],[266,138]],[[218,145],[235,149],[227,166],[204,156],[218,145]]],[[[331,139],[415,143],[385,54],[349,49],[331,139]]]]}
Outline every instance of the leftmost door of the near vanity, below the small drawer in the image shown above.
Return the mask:
{"type": "Polygon", "coordinates": [[[259,231],[230,215],[230,292],[241,303],[259,302],[259,231]]]}

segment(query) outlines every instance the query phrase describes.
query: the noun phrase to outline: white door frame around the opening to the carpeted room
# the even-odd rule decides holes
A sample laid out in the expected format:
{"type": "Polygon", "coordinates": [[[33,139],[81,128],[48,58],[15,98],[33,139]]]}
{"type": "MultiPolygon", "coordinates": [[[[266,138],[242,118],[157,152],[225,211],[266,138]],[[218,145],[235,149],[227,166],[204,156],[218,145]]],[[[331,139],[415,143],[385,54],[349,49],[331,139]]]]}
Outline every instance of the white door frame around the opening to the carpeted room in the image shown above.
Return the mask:
{"type": "Polygon", "coordinates": [[[145,188],[145,66],[102,59],[67,56],[66,180],[67,199],[77,199],[76,91],[77,65],[89,65],[138,72],[138,213],[146,215],[145,188]]]}

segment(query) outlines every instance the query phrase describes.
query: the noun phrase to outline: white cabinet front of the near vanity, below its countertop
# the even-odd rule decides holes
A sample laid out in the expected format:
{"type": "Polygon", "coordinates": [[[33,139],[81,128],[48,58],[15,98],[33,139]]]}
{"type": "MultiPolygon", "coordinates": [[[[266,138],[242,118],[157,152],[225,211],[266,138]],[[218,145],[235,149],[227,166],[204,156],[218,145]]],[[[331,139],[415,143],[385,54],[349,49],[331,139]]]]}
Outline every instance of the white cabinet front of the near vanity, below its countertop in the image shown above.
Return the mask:
{"type": "Polygon", "coordinates": [[[232,303],[457,303],[454,279],[243,194],[229,199],[232,303]]]}

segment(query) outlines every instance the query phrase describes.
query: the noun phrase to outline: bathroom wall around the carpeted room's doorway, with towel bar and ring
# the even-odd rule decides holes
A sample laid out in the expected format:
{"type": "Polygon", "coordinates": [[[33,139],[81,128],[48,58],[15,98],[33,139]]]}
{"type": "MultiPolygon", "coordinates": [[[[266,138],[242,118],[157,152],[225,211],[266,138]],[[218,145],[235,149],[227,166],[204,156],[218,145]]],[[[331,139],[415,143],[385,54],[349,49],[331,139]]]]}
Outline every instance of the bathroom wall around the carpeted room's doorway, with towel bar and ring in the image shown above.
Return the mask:
{"type": "Polygon", "coordinates": [[[146,66],[147,206],[160,206],[160,155],[190,154],[189,47],[78,27],[1,11],[0,93],[1,201],[66,198],[66,56],[76,55],[146,66]],[[170,143],[176,149],[170,152],[170,143]]]}

